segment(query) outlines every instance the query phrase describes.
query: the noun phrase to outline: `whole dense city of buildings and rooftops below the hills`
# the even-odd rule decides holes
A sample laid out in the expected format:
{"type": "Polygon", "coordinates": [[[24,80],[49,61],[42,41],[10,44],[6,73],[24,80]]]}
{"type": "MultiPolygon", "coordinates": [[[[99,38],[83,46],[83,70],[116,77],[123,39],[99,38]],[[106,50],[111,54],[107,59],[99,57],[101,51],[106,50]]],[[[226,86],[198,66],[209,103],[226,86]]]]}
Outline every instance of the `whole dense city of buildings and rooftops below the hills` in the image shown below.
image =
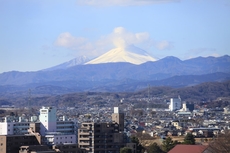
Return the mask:
{"type": "Polygon", "coordinates": [[[31,96],[26,106],[2,105],[0,152],[230,151],[229,97],[191,102],[157,97],[150,88],[141,95],[88,92],[87,102],[70,105],[81,99],[68,96],[54,106],[33,106],[31,96]]]}

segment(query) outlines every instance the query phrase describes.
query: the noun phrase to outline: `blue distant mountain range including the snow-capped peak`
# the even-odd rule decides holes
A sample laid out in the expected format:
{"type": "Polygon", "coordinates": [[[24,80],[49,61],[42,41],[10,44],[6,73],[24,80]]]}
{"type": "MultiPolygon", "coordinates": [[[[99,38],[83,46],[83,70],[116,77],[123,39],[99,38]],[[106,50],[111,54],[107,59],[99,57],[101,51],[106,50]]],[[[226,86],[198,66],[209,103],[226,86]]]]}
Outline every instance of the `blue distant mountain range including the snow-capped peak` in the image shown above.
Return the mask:
{"type": "Polygon", "coordinates": [[[230,56],[160,60],[135,46],[114,49],[36,72],[0,74],[0,94],[28,91],[62,94],[76,91],[134,91],[151,86],[184,87],[230,80],[230,56]]]}

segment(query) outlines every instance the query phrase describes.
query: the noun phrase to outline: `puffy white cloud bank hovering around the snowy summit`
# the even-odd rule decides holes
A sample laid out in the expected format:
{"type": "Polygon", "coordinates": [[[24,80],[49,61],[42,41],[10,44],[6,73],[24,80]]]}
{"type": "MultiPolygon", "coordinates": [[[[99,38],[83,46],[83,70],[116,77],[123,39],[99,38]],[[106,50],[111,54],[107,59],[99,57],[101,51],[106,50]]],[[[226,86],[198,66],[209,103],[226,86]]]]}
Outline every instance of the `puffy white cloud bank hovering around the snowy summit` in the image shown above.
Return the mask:
{"type": "Polygon", "coordinates": [[[89,41],[84,37],[75,37],[69,32],[64,32],[57,37],[55,45],[74,51],[76,56],[86,55],[91,57],[102,55],[113,48],[124,48],[128,45],[145,47],[143,49],[151,46],[158,50],[173,48],[171,42],[166,40],[156,42],[150,38],[147,32],[133,33],[124,27],[116,27],[110,34],[101,36],[96,41],[89,41]]]}

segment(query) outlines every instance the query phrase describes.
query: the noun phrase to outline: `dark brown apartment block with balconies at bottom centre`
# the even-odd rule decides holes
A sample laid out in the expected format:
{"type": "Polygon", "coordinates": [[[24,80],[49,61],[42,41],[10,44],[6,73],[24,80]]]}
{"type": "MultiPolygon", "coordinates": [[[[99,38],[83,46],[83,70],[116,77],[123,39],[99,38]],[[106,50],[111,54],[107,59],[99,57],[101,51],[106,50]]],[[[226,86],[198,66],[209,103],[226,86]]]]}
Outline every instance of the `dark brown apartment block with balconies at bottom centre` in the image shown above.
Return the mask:
{"type": "Polygon", "coordinates": [[[78,145],[92,153],[119,153],[126,145],[124,114],[114,108],[112,122],[85,122],[78,129],[78,145]]]}

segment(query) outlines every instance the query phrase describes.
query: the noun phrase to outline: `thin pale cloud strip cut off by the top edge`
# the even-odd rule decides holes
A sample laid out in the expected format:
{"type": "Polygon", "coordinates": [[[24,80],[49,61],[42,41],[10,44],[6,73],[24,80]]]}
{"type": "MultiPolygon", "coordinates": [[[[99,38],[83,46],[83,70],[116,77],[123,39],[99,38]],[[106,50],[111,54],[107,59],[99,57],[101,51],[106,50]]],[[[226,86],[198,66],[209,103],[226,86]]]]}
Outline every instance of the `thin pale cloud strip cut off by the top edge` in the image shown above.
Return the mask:
{"type": "Polygon", "coordinates": [[[77,0],[78,4],[92,6],[130,6],[179,2],[180,0],[77,0]]]}

